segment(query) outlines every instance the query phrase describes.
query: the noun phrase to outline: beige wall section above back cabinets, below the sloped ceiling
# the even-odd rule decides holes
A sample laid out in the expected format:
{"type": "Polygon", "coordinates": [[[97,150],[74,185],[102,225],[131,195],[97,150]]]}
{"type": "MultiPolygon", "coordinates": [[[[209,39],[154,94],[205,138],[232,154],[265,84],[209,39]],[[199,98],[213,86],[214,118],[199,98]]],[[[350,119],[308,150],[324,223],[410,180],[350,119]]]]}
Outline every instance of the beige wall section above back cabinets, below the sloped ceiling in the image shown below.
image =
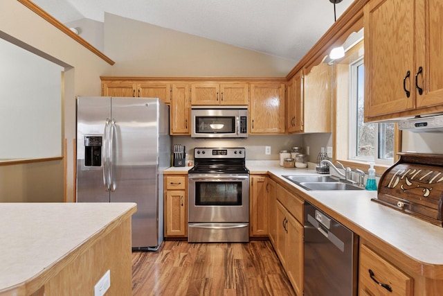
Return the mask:
{"type": "Polygon", "coordinates": [[[105,54],[112,76],[277,76],[293,60],[105,14],[105,54]]]}

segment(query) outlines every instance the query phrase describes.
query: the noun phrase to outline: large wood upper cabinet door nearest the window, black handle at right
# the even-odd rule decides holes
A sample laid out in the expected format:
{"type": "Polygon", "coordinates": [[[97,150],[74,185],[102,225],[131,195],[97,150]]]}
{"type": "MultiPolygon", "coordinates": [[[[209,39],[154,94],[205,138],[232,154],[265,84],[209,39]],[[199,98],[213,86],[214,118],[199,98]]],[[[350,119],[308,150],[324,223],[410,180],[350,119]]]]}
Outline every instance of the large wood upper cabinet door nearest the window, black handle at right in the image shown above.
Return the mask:
{"type": "Polygon", "coordinates": [[[414,1],[372,0],[364,8],[367,119],[415,108],[414,19],[414,1]]]}

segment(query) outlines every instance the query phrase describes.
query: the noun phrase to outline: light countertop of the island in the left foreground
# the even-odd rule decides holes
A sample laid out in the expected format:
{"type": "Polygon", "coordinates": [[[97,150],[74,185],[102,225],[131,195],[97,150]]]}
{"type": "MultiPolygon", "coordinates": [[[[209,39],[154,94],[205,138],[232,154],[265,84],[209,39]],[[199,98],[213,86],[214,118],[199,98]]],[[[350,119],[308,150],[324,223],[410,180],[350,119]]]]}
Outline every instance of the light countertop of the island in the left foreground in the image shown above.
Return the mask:
{"type": "Polygon", "coordinates": [[[117,220],[134,203],[0,203],[0,292],[37,277],[117,220]]]}

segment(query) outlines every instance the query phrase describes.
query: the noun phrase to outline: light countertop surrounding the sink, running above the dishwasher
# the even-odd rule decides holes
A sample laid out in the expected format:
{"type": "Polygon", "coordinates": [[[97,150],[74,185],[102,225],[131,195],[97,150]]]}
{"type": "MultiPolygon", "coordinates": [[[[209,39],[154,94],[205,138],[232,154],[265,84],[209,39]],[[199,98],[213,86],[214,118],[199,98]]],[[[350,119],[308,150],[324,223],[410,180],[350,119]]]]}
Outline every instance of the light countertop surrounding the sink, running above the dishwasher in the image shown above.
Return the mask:
{"type": "Polygon", "coordinates": [[[257,164],[246,164],[251,174],[267,172],[279,177],[345,226],[356,225],[421,263],[443,265],[443,228],[371,201],[377,191],[307,191],[282,175],[318,175],[315,169],[282,168],[278,162],[257,164]]]}

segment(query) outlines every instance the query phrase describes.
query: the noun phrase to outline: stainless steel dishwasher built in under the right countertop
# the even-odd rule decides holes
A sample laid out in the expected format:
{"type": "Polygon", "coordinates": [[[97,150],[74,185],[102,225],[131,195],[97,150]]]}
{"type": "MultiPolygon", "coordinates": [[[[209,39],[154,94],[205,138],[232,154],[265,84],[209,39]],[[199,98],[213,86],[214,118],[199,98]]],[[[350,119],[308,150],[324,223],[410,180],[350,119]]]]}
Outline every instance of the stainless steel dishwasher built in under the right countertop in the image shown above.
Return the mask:
{"type": "Polygon", "coordinates": [[[305,202],[305,296],[357,295],[359,237],[305,202]]]}

